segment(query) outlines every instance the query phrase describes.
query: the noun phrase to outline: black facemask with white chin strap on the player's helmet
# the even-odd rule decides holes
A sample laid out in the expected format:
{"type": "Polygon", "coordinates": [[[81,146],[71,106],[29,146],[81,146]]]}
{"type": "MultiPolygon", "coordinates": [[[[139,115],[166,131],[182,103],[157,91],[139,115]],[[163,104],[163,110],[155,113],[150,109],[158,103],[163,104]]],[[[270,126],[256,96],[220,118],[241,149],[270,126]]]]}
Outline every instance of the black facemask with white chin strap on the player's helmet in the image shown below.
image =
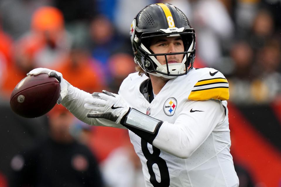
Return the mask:
{"type": "Polygon", "coordinates": [[[150,36],[140,37],[138,42],[137,51],[138,51],[138,61],[140,60],[139,65],[143,68],[146,73],[157,77],[164,77],[168,79],[175,78],[177,76],[186,75],[187,72],[193,67],[193,60],[195,56],[195,34],[193,32],[181,32],[181,33],[158,33],[150,36]],[[184,45],[184,51],[174,52],[174,53],[153,53],[149,48],[150,41],[154,37],[181,37],[184,45]],[[181,62],[169,63],[168,58],[170,55],[183,55],[181,62]],[[157,56],[165,57],[165,64],[161,64],[157,60],[157,56]],[[192,63],[191,63],[192,62],[192,63]],[[141,63],[141,64],[140,64],[141,63]],[[189,66],[191,67],[189,68],[189,66]]]}

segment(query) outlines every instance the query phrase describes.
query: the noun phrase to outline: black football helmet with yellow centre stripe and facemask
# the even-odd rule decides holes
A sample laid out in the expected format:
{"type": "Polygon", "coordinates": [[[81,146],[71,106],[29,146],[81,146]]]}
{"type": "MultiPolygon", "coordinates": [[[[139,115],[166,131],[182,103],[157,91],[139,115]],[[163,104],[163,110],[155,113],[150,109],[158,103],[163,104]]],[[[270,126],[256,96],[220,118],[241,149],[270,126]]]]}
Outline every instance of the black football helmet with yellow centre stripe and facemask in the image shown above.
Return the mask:
{"type": "Polygon", "coordinates": [[[158,77],[174,78],[186,75],[193,67],[195,58],[195,31],[186,15],[177,7],[168,3],[150,4],[134,18],[130,28],[131,43],[135,62],[145,73],[158,77]],[[181,36],[184,52],[154,54],[150,50],[152,37],[181,36]],[[168,64],[167,56],[184,54],[181,63],[168,64]],[[166,65],[161,65],[156,56],[165,56],[166,65]]]}

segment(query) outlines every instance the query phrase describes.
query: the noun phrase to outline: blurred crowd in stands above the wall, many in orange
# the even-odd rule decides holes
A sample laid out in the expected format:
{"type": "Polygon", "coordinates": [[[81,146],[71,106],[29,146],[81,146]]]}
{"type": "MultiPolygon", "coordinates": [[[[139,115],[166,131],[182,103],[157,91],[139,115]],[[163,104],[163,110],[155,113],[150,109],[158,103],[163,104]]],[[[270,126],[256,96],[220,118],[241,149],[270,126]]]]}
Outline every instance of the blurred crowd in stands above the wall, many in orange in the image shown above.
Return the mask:
{"type": "MultiPolygon", "coordinates": [[[[155,2],[162,1],[1,0],[0,97],[6,100],[36,67],[60,71],[85,91],[117,92],[134,72],[128,25],[139,7],[155,2]]],[[[280,96],[279,0],[165,2],[186,13],[196,30],[194,66],[224,73],[230,101],[260,104],[280,96]]]]}

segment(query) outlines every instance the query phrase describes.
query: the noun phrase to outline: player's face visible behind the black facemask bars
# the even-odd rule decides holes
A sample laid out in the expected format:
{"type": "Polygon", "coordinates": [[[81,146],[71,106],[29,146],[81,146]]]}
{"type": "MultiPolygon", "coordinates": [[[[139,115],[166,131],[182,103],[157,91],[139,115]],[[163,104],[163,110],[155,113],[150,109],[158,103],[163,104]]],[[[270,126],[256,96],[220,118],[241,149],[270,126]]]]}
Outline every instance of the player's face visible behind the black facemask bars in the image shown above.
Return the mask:
{"type": "MultiPolygon", "coordinates": [[[[181,37],[155,37],[151,41],[150,49],[153,53],[177,53],[184,51],[184,44],[181,37]]],[[[162,64],[166,64],[165,56],[156,56],[157,60],[162,64]]],[[[181,63],[184,54],[167,55],[168,63],[181,63]]]]}

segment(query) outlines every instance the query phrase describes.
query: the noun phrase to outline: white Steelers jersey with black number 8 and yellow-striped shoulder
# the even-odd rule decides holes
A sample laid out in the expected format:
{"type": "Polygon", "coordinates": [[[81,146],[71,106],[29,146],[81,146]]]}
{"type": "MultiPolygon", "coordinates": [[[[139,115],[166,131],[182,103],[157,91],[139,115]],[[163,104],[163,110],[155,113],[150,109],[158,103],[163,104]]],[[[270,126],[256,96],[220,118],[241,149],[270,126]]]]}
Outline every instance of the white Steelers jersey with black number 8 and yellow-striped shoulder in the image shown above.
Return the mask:
{"type": "Polygon", "coordinates": [[[145,185],[239,186],[229,153],[227,101],[221,101],[228,97],[225,77],[211,68],[192,69],[187,75],[170,79],[151,103],[140,92],[146,79],[145,75],[130,74],[119,90],[131,108],[164,121],[154,146],[129,130],[143,166],[145,185]],[[176,148],[185,146],[187,156],[185,150],[176,148]]]}

